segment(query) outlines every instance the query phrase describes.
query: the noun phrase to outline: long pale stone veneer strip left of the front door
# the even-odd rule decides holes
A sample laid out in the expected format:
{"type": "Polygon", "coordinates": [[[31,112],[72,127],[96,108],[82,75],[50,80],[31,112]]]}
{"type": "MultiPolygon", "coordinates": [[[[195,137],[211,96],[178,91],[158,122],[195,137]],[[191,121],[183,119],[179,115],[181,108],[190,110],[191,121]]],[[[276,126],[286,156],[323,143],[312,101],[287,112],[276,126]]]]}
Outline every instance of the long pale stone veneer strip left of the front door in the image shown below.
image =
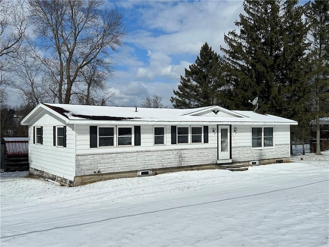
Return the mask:
{"type": "Polygon", "coordinates": [[[217,148],[117,152],[76,156],[76,176],[214,164],[217,148]]]}

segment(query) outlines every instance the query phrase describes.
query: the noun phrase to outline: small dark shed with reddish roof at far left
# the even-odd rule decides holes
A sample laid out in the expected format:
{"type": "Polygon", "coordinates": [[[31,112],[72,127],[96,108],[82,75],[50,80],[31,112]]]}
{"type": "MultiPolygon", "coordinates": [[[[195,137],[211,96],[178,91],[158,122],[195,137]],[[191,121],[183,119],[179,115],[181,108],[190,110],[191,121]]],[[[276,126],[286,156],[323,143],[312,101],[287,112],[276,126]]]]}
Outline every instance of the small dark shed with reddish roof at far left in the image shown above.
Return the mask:
{"type": "Polygon", "coordinates": [[[1,171],[27,171],[28,138],[3,137],[1,139],[1,171]]]}

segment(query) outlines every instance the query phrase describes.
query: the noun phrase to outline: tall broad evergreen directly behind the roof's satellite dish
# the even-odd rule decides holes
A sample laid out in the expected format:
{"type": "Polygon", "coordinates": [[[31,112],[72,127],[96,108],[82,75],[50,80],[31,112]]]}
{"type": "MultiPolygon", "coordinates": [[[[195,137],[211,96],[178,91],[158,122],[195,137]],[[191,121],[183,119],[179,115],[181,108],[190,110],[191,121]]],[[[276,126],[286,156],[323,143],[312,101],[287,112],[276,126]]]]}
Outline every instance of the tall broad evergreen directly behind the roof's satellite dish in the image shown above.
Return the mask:
{"type": "MultiPolygon", "coordinates": [[[[250,110],[248,100],[259,96],[260,111],[280,107],[281,88],[277,86],[282,48],[280,5],[278,1],[245,1],[246,15],[235,22],[239,31],[224,37],[221,47],[232,82],[232,108],[250,110]]],[[[272,111],[272,113],[275,113],[272,111]]]]}

